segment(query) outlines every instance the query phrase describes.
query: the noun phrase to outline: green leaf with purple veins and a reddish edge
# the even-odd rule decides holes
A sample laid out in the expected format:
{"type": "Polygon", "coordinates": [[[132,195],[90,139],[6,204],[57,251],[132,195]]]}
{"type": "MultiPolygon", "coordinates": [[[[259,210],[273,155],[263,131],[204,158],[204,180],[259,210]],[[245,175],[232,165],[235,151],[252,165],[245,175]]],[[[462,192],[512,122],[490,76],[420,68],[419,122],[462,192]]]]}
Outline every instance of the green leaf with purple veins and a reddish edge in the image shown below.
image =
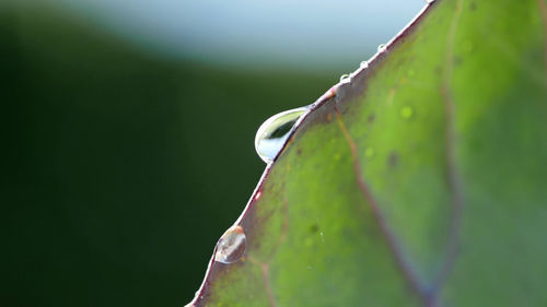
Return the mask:
{"type": "Polygon", "coordinates": [[[545,306],[547,4],[439,0],[322,96],[190,306],[545,306]]]}

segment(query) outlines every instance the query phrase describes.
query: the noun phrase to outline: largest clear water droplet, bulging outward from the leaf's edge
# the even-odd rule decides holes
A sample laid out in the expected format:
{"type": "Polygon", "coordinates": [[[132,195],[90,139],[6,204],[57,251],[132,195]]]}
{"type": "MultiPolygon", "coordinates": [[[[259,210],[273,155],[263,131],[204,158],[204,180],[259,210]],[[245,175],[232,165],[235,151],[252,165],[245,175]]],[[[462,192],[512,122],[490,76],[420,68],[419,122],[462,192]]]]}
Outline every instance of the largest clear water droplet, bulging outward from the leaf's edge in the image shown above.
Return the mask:
{"type": "Polygon", "coordinates": [[[292,127],[306,110],[307,108],[302,107],[276,114],[258,128],[255,137],[255,149],[264,162],[274,161],[289,138],[292,127]]]}

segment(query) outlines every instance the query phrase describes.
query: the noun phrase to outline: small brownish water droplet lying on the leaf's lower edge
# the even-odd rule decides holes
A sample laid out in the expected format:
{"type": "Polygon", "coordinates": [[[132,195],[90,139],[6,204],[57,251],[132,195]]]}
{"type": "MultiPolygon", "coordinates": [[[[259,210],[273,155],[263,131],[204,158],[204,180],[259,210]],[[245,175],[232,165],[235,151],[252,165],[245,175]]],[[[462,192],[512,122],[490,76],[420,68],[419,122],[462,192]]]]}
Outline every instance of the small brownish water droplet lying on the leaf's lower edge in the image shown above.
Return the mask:
{"type": "Polygon", "coordinates": [[[217,244],[214,261],[225,264],[238,261],[245,253],[246,239],[241,226],[230,227],[217,244]]]}

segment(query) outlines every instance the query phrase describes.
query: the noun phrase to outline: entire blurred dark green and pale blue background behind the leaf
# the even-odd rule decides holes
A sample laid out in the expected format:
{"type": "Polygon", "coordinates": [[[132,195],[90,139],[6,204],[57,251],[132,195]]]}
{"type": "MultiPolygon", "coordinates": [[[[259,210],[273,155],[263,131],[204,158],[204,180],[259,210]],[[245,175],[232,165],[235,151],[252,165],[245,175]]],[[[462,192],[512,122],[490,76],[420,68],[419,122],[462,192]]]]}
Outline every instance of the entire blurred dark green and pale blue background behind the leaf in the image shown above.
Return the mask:
{"type": "Polygon", "coordinates": [[[2,306],[184,306],[265,164],[269,116],[420,0],[0,2],[2,306]]]}

